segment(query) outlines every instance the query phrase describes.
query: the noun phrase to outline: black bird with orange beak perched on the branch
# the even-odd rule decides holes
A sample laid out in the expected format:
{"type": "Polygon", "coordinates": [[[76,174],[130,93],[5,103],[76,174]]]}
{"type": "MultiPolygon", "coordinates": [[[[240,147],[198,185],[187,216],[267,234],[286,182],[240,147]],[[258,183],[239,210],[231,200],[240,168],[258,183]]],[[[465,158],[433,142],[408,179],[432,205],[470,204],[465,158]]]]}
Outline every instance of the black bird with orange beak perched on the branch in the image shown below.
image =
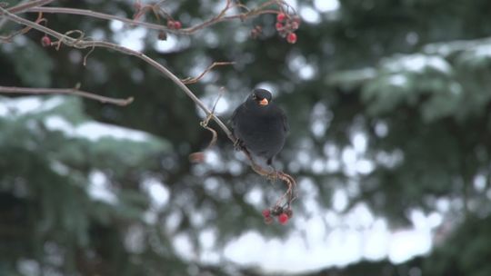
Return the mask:
{"type": "Polygon", "coordinates": [[[232,114],[232,126],[237,145],[273,163],[285,144],[289,130],[285,112],[271,102],[271,93],[255,89],[232,114]]]}

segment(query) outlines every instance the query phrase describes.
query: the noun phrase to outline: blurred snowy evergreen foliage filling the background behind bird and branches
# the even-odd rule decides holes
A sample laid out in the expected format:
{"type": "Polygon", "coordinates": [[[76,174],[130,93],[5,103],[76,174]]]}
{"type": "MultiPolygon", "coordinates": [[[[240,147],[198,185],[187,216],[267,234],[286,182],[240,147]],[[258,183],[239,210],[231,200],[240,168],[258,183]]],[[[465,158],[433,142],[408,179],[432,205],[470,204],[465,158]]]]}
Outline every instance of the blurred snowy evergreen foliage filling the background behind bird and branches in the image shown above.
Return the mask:
{"type": "MultiPolygon", "coordinates": [[[[315,2],[298,1],[304,21],[296,44],[276,34],[274,15],[170,35],[167,42],[115,22],[45,17],[61,33],[80,29],[140,47],[183,78],[214,61],[234,61],[190,85],[210,106],[225,87],[217,110],[225,121],[256,85],[271,88],[292,129],[276,165],[300,183],[296,217],[314,215],[307,197],[332,210],[337,189],[348,203],[336,212],[365,203],[394,228],[408,226],[414,210],[443,217],[425,256],[306,275],[490,275],[491,2],[346,0],[331,12],[316,10],[315,2]],[[264,29],[256,40],[248,36],[255,25],[264,29]],[[313,187],[302,188],[308,183],[313,187]]],[[[55,5],[133,15],[131,1],[55,5]]],[[[184,26],[223,5],[164,4],[184,26]]],[[[0,31],[17,28],[7,23],[0,31]]],[[[213,233],[213,250],[223,251],[250,230],[266,237],[296,231],[296,224],[266,227],[260,215],[281,185],[251,173],[223,133],[208,162],[189,163],[188,154],[210,139],[199,126],[202,114],[147,64],[95,49],[84,67],[85,52],[42,48],[42,35],[32,31],[1,44],[1,85],[80,83],[106,96],[134,96],[135,103],[0,98],[0,274],[262,274],[222,257],[211,264],[190,259],[175,241],[185,237],[199,255],[203,232],[213,233]],[[97,135],[102,127],[113,127],[111,135],[97,135]],[[258,202],[247,200],[251,190],[260,191],[258,202]]]]}

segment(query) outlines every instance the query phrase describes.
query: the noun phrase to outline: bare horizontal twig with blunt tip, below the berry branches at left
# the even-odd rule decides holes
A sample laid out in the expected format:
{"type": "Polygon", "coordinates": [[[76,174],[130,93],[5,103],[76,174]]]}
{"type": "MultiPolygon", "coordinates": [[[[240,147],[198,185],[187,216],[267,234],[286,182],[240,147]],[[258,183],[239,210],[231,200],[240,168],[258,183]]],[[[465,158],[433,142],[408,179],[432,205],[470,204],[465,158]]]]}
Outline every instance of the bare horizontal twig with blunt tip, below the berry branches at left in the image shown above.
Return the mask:
{"type": "Polygon", "coordinates": [[[115,99],[78,90],[76,88],[31,88],[31,87],[11,87],[0,86],[0,93],[6,94],[72,94],[87,99],[92,99],[105,104],[116,104],[125,106],[133,102],[133,97],[127,99],[115,99]]]}

